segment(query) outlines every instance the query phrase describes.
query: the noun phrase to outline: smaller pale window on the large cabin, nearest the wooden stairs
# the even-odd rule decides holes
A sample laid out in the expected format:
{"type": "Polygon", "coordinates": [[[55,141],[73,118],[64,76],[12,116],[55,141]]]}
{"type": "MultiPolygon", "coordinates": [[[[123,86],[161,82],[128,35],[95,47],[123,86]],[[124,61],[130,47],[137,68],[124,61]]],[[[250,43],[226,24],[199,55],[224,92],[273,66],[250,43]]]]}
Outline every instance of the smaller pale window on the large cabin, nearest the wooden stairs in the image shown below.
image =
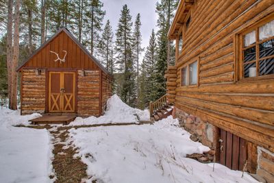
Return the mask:
{"type": "Polygon", "coordinates": [[[198,84],[198,61],[187,64],[181,69],[181,86],[198,84]]]}

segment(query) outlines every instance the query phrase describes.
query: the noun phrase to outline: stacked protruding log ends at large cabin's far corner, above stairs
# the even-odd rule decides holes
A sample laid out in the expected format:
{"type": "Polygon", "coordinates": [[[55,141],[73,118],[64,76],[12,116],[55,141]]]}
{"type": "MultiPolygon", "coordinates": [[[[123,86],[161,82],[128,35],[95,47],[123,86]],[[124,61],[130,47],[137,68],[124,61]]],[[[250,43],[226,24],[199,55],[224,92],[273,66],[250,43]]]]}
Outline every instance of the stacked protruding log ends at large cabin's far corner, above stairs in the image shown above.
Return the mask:
{"type": "Polygon", "coordinates": [[[167,70],[164,71],[164,78],[166,78],[166,97],[169,103],[175,102],[176,95],[176,80],[177,80],[177,67],[168,66],[167,70]]]}

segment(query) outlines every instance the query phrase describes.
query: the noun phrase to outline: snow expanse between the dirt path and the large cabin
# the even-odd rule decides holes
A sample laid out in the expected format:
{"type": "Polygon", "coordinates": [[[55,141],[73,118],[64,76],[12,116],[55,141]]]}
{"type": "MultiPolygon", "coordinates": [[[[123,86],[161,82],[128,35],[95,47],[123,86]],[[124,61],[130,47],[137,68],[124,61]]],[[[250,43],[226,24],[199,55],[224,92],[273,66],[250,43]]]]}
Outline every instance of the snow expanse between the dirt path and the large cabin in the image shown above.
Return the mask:
{"type": "Polygon", "coordinates": [[[185,158],[209,148],[190,140],[190,134],[169,117],[154,125],[74,128],[70,136],[90,180],[102,182],[256,182],[221,164],[202,164],[185,158]]]}

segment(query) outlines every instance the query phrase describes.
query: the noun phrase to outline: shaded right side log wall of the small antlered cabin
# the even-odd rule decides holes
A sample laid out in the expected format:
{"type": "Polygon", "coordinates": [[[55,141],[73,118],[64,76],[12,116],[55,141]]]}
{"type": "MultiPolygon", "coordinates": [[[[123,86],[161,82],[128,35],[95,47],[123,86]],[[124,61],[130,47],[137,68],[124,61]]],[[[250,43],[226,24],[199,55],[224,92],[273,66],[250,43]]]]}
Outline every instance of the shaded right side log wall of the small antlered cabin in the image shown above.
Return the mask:
{"type": "Polygon", "coordinates": [[[112,80],[112,77],[102,73],[102,112],[105,111],[107,101],[112,95],[112,80]]]}

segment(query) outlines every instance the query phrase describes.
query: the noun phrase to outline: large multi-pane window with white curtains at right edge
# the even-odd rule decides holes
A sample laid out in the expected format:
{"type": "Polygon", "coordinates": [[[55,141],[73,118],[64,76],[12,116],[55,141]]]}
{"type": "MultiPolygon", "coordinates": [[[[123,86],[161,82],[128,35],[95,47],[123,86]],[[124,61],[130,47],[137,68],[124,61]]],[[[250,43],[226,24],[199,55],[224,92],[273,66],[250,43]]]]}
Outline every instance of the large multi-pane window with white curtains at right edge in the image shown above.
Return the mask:
{"type": "Polygon", "coordinates": [[[274,74],[274,20],[242,35],[242,77],[274,74]]]}

